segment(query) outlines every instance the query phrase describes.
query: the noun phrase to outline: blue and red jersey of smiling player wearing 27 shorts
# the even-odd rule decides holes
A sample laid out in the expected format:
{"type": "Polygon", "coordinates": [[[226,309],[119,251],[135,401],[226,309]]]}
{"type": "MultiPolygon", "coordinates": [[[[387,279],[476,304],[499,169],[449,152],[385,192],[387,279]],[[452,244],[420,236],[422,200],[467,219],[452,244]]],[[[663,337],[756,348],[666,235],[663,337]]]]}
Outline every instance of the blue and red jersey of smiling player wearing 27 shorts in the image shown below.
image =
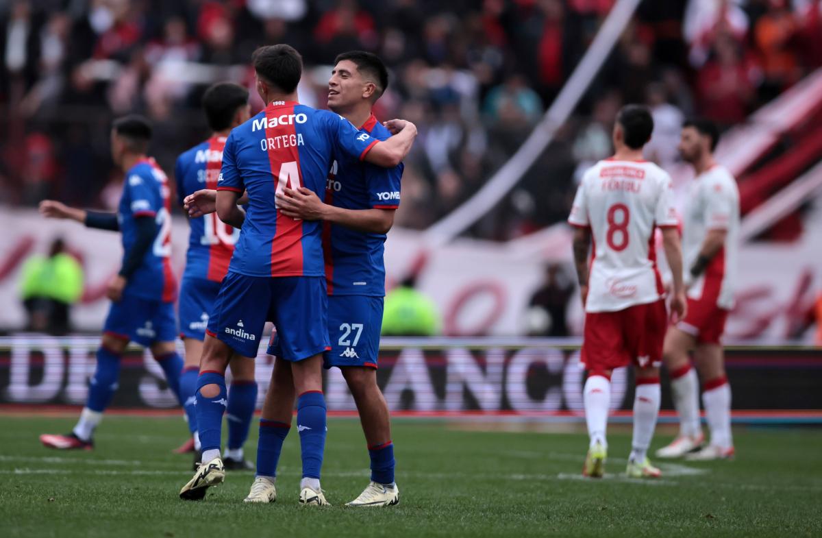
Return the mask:
{"type": "MultiPolygon", "coordinates": [[[[360,131],[376,140],[391,136],[373,114],[360,131]]],[[[396,209],[402,175],[402,164],[381,168],[341,155],[328,174],[326,203],[344,209],[396,209]]],[[[386,234],[369,234],[326,222],[322,239],[329,295],[386,295],[386,234]]]]}

